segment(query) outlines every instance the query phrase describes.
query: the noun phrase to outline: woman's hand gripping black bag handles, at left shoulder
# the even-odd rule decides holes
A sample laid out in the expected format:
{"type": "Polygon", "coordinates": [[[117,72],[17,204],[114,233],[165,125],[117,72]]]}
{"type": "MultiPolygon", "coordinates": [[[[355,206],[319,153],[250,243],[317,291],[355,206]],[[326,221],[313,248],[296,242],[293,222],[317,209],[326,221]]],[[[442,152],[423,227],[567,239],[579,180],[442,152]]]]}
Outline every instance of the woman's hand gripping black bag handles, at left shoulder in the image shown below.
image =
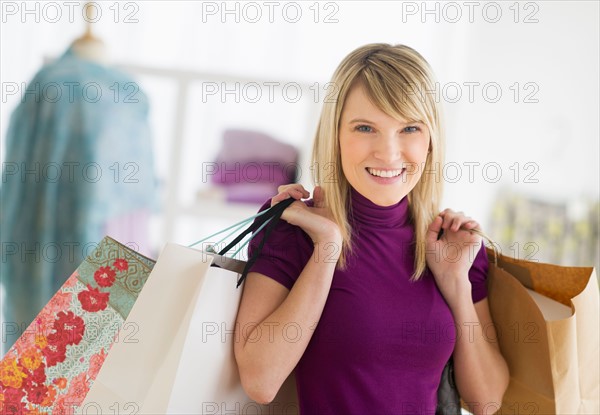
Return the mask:
{"type": "Polygon", "coordinates": [[[310,193],[299,183],[286,184],[277,188],[279,192],[271,199],[271,206],[294,198],[296,201],[283,211],[281,218],[299,226],[310,236],[313,243],[334,242],[341,244],[342,237],[338,225],[331,219],[329,208],[325,207],[325,194],[320,186],[313,191],[314,207],[308,207],[300,199],[310,197],[310,193]]]}

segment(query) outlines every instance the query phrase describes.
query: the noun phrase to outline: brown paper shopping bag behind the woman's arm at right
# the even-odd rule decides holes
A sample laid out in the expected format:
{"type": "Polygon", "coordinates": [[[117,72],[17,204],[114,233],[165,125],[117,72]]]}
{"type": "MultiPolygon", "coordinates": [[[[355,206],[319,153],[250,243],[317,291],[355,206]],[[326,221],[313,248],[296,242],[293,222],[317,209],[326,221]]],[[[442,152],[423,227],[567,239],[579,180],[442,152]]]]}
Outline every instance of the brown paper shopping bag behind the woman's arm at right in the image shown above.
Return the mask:
{"type": "Polygon", "coordinates": [[[510,371],[498,409],[514,414],[599,414],[595,270],[514,259],[493,249],[488,256],[490,312],[510,371]],[[548,310],[551,303],[553,310],[548,310]],[[566,309],[566,316],[556,315],[560,308],[559,312],[566,309]]]}

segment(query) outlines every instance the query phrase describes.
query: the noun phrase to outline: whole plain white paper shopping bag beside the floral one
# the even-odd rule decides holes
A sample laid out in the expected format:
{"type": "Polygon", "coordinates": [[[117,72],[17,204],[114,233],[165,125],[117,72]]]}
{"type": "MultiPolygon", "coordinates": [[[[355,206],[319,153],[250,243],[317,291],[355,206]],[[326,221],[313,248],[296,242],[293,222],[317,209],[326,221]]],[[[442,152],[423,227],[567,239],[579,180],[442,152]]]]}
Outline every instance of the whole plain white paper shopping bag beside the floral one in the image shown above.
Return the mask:
{"type": "Polygon", "coordinates": [[[113,346],[81,413],[297,413],[293,378],[269,408],[241,386],[233,330],[244,266],[167,244],[127,320],[137,342],[113,346]]]}

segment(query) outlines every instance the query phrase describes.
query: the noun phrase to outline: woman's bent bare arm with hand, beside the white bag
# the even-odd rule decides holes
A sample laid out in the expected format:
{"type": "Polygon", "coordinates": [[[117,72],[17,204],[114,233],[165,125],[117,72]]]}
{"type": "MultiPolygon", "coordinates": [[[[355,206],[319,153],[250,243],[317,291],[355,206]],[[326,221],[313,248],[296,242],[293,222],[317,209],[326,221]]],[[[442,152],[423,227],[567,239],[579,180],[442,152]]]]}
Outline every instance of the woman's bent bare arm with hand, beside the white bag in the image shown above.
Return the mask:
{"type": "MultiPolygon", "coordinates": [[[[305,195],[293,190],[284,193],[297,199],[305,195]]],[[[280,193],[272,204],[285,198],[280,193]]],[[[313,254],[292,289],[288,291],[255,272],[248,274],[244,286],[236,321],[235,338],[239,341],[235,342],[234,353],[244,390],[259,403],[273,400],[302,357],[331,287],[339,256],[337,249],[337,255],[331,258],[331,244],[341,246],[341,237],[337,225],[320,214],[322,196],[318,191],[314,199],[315,208],[294,202],[282,216],[302,227],[314,243],[313,254]],[[284,330],[290,324],[301,333],[295,342],[287,340],[284,330]]]]}

